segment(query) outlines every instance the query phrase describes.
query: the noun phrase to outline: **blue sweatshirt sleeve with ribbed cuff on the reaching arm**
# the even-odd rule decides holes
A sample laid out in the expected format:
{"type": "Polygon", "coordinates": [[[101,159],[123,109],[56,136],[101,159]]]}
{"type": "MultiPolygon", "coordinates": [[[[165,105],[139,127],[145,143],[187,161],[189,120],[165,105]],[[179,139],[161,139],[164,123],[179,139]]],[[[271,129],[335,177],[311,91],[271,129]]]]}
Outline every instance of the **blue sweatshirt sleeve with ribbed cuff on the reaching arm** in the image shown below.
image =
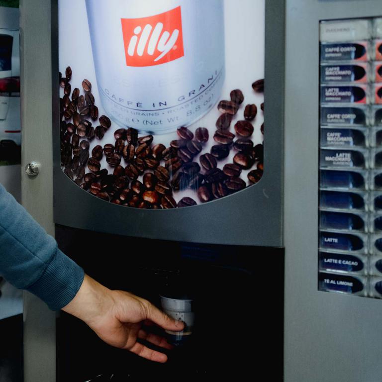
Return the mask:
{"type": "Polygon", "coordinates": [[[0,275],[58,310],[77,294],[84,270],[69,259],[0,185],[0,275]]]}

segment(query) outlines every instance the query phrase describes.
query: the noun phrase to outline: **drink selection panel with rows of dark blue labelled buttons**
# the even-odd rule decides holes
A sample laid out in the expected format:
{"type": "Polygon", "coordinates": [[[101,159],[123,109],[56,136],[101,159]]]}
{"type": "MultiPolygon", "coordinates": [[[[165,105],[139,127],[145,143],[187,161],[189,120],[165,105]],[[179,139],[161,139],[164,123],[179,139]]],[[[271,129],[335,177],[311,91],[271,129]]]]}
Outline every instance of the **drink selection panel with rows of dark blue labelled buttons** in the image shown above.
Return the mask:
{"type": "Polygon", "coordinates": [[[320,22],[318,289],[382,298],[382,17],[320,22]]]}

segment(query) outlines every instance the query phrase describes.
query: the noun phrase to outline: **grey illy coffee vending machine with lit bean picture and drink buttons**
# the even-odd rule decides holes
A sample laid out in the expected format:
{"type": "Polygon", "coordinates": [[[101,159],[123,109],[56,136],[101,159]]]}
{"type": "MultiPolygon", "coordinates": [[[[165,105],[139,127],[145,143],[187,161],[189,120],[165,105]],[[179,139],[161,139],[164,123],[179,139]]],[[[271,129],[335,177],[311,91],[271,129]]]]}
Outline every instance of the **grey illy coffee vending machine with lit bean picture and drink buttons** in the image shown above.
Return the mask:
{"type": "Polygon", "coordinates": [[[157,365],[26,294],[25,380],[378,381],[382,3],[20,12],[24,205],[97,281],[189,320],[157,365]]]}

